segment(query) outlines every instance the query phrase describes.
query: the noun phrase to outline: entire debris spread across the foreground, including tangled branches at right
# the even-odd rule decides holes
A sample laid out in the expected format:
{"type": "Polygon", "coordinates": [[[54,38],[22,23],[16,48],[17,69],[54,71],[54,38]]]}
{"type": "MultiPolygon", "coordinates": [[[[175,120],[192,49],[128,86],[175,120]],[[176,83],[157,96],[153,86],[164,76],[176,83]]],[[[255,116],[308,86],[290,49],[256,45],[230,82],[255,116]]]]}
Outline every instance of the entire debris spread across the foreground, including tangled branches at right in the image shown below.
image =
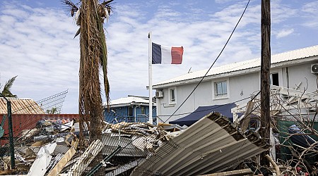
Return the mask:
{"type": "Polygon", "coordinates": [[[259,99],[232,109],[243,114],[235,124],[216,112],[189,127],[103,122],[100,140],[89,143],[88,130],[83,132],[81,145],[86,146],[79,145],[76,119],[46,118],[14,135],[14,169],[8,141],[1,142],[0,175],[94,175],[100,169],[105,175],[317,175],[317,112],[313,111],[317,107],[313,104],[318,96],[302,93],[281,98],[283,91],[271,96],[273,147],[258,134],[259,99]],[[307,111],[304,115],[295,109],[307,111]],[[266,158],[271,166],[259,165],[259,153],[269,150],[266,158]],[[97,161],[95,156],[100,155],[103,159],[97,161]]]}

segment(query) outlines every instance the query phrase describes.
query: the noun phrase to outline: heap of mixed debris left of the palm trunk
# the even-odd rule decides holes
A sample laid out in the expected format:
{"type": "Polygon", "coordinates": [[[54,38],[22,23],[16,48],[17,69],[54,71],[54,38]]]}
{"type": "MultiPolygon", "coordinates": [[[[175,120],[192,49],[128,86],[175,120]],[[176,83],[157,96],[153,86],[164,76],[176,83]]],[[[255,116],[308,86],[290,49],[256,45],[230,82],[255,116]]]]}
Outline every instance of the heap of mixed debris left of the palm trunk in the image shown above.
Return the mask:
{"type": "MultiPolygon", "coordinates": [[[[78,146],[78,132],[73,128],[74,120],[39,120],[36,127],[22,130],[15,139],[15,170],[11,170],[9,150],[3,152],[0,175],[9,172],[28,175],[45,175],[70,151],[78,146]]],[[[8,148],[8,144],[1,149],[8,148]]]]}

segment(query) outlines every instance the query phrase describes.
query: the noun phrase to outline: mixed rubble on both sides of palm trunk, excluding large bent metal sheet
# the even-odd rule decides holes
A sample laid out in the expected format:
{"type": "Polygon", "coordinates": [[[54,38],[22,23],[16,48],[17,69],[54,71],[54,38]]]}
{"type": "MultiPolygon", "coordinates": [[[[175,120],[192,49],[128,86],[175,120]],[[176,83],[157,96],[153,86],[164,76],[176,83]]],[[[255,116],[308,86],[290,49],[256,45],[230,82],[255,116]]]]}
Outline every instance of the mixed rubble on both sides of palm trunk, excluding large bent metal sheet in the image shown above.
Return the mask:
{"type": "Polygon", "coordinates": [[[129,157],[137,157],[136,161],[141,161],[155,154],[155,149],[171,139],[170,132],[148,123],[104,122],[104,125],[102,140],[81,151],[78,148],[79,125],[76,120],[40,120],[35,128],[23,130],[20,137],[15,139],[16,161],[13,170],[8,145],[1,146],[1,151],[6,152],[0,160],[0,175],[82,175],[92,170],[94,165],[89,164],[100,152],[103,156],[110,156],[121,146],[119,153],[102,165],[105,172],[118,174],[136,166],[136,162],[129,157]]]}

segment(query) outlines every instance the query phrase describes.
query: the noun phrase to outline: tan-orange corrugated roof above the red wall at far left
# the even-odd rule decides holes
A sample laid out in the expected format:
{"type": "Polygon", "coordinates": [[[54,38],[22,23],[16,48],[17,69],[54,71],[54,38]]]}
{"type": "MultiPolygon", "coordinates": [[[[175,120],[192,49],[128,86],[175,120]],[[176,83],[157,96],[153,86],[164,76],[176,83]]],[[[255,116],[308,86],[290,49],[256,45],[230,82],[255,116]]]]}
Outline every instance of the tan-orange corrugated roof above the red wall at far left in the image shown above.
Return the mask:
{"type": "MultiPolygon", "coordinates": [[[[44,114],[43,109],[33,99],[7,98],[11,101],[12,114],[44,114]]],[[[0,98],[0,114],[7,114],[6,99],[0,98]]]]}

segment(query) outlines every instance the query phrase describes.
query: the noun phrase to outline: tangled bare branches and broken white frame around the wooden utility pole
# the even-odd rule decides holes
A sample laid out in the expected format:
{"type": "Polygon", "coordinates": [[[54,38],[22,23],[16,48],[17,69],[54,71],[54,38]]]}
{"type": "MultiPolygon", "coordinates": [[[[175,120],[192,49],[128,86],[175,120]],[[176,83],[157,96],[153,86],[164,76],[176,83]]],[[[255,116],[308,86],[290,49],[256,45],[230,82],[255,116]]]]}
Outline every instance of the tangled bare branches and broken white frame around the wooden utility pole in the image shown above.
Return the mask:
{"type": "MultiPolygon", "coordinates": [[[[317,92],[271,85],[271,169],[282,175],[318,175],[317,92]],[[276,165],[276,166],[275,166],[276,165]]],[[[260,128],[260,97],[232,108],[238,130],[260,128]],[[239,117],[239,114],[244,114],[239,117]]],[[[256,165],[254,165],[256,166],[256,165]]],[[[258,168],[258,167],[254,167],[258,168]]],[[[255,169],[255,173],[260,173],[255,169]]]]}

